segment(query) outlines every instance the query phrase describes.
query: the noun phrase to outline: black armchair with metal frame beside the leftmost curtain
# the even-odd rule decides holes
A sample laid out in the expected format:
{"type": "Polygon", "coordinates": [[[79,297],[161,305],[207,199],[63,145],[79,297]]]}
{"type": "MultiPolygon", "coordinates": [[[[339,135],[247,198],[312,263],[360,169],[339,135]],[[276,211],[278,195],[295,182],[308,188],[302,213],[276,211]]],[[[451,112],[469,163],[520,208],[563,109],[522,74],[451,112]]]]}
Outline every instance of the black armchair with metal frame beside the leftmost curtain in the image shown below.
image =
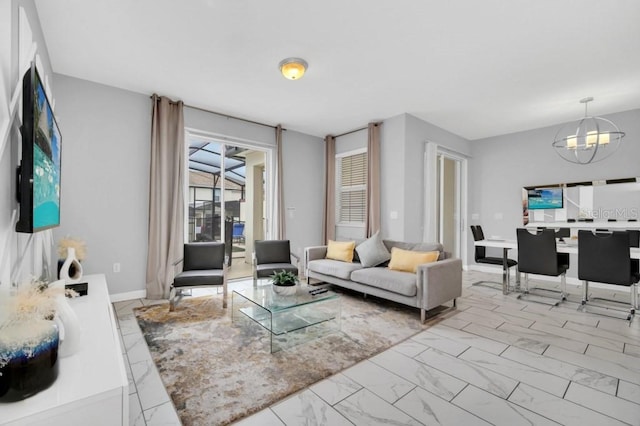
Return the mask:
{"type": "Polygon", "coordinates": [[[173,312],[184,290],[222,287],[222,307],[227,307],[227,266],[222,242],[188,243],[184,245],[182,272],[173,279],[169,292],[169,311],[173,312]]]}

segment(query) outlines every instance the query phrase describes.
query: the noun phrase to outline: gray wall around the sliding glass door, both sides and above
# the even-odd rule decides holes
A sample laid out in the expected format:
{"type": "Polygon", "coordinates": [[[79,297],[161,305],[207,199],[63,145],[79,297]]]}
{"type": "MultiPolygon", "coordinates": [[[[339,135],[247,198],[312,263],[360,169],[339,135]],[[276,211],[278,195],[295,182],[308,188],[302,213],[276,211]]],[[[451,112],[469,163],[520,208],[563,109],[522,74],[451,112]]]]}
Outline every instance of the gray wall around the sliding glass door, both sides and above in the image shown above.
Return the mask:
{"type": "MultiPolygon", "coordinates": [[[[141,292],[147,261],[151,100],[64,75],[56,75],[55,83],[63,198],[62,226],[54,237],[84,239],[85,272],[106,273],[111,294],[141,292]],[[121,264],[121,272],[112,272],[114,263],[121,264]]],[[[185,125],[222,139],[263,146],[275,141],[271,127],[190,108],[185,108],[185,125]]],[[[321,240],[323,157],[322,139],[284,132],[286,235],[297,254],[321,240]]]]}

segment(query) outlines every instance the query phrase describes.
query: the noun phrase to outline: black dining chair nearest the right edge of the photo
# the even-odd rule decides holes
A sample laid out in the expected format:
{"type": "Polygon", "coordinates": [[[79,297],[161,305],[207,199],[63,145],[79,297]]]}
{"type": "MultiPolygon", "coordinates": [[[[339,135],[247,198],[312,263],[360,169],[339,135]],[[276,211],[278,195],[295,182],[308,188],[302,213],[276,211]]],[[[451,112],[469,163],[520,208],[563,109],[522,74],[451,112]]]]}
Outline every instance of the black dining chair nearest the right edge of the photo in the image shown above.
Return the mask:
{"type": "Polygon", "coordinates": [[[589,301],[590,282],[629,287],[631,294],[627,319],[633,319],[638,309],[637,283],[640,281],[640,272],[638,264],[632,262],[629,254],[632,238],[635,240],[637,234],[628,231],[578,231],[578,278],[582,281],[583,307],[589,301]]]}

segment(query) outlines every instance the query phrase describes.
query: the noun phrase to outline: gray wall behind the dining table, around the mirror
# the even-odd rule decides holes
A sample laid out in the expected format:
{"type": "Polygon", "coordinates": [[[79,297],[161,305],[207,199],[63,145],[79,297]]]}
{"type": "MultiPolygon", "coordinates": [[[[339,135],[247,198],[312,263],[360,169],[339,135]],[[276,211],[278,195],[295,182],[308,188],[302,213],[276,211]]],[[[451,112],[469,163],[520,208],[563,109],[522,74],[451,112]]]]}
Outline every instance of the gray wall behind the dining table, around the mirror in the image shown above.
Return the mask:
{"type": "MultiPolygon", "coordinates": [[[[471,142],[468,223],[482,225],[486,236],[515,239],[523,186],[640,176],[640,110],[605,117],[626,136],[618,152],[594,164],[572,164],[555,153],[551,143],[562,124],[471,142]]],[[[470,234],[468,250],[473,252],[470,234]]],[[[576,266],[572,260],[573,275],[576,266]]]]}

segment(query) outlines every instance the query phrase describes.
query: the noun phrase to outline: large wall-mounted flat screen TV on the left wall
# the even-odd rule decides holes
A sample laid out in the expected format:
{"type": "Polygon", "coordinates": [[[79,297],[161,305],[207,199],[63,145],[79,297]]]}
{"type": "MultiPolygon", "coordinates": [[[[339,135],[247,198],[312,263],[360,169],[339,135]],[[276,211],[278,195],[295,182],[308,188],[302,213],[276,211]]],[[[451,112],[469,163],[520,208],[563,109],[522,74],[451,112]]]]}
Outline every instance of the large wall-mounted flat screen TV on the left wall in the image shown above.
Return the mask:
{"type": "Polygon", "coordinates": [[[22,80],[22,159],[17,173],[17,232],[60,225],[60,129],[35,63],[22,80]]]}

